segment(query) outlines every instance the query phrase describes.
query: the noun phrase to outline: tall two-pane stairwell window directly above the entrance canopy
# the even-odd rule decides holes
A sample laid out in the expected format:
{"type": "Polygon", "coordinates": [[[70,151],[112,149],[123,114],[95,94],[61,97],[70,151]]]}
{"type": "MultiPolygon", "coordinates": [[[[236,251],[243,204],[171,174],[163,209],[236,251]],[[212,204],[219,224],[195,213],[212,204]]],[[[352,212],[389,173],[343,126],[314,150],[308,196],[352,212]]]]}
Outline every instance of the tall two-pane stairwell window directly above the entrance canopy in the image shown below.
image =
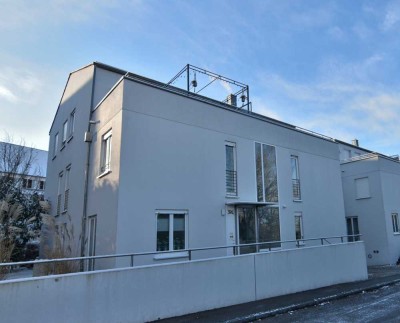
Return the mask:
{"type": "Polygon", "coordinates": [[[278,202],[275,147],[255,143],[257,201],[278,202]]]}

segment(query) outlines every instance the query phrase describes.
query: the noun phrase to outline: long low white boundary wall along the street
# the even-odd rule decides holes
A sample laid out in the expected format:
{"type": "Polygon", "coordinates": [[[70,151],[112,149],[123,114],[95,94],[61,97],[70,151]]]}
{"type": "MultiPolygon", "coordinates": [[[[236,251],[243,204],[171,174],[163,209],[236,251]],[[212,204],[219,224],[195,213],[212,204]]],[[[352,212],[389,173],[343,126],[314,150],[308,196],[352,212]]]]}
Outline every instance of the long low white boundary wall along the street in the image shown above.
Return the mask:
{"type": "Polygon", "coordinates": [[[358,242],[4,281],[0,313],[9,323],[157,320],[367,279],[364,254],[358,242]]]}

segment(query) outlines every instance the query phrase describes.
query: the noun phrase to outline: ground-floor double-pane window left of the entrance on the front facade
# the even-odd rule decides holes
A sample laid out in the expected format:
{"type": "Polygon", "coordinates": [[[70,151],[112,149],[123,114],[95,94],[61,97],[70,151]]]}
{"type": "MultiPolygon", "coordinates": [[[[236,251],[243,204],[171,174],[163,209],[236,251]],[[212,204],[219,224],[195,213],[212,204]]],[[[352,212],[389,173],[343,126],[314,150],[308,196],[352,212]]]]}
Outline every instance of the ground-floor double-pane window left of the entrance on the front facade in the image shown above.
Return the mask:
{"type": "Polygon", "coordinates": [[[187,212],[157,213],[157,251],[187,248],[187,212]]]}

